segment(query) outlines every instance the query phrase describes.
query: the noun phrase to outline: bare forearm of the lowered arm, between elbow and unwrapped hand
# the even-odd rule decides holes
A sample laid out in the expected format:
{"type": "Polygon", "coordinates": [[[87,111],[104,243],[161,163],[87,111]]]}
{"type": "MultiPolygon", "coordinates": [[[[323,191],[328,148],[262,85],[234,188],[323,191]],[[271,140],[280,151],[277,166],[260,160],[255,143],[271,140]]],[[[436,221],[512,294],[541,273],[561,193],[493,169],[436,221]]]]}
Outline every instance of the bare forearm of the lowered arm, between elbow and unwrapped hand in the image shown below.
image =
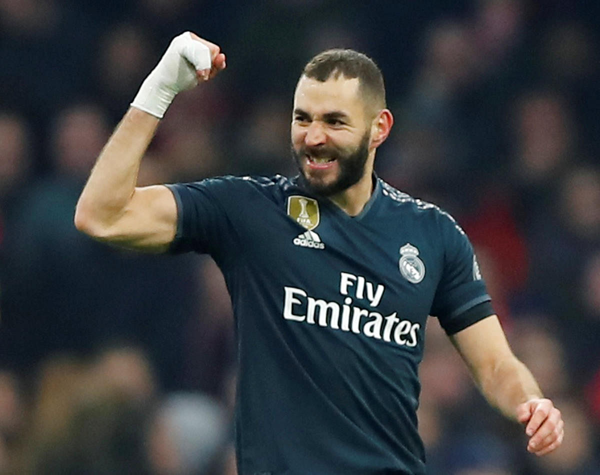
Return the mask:
{"type": "Polygon", "coordinates": [[[476,382],[488,402],[511,419],[516,419],[515,408],[519,404],[543,397],[527,366],[514,356],[497,362],[492,371],[481,375],[476,382]]]}

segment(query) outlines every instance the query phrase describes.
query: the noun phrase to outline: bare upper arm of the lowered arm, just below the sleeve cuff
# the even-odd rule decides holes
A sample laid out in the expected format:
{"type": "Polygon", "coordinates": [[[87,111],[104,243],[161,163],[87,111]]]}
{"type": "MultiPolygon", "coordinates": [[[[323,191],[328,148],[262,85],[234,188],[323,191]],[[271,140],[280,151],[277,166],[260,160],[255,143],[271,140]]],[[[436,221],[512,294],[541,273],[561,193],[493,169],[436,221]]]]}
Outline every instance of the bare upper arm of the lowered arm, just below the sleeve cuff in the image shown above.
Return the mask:
{"type": "Polygon", "coordinates": [[[496,315],[473,323],[450,339],[479,383],[490,377],[506,359],[514,358],[496,315]]]}

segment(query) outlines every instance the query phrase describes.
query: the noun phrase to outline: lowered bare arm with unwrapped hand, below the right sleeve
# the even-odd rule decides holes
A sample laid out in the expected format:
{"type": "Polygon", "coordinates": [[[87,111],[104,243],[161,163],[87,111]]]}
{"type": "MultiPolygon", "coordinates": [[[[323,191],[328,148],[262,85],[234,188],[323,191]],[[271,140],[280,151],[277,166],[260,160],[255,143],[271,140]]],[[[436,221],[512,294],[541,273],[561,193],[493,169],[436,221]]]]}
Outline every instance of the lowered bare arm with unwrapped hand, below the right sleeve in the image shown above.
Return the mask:
{"type": "Polygon", "coordinates": [[[563,420],[538,383],[512,353],[496,315],[451,336],[463,360],[491,405],[525,425],[527,450],[544,455],[563,440],[563,420]]]}

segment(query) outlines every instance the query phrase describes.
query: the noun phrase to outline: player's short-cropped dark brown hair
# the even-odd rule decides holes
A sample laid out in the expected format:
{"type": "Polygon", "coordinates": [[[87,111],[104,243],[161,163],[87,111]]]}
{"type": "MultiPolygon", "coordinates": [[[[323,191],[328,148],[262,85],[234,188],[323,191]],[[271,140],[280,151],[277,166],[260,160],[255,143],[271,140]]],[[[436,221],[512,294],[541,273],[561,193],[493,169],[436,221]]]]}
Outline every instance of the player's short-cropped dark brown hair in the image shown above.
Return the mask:
{"type": "Polygon", "coordinates": [[[310,79],[325,82],[338,79],[358,78],[359,91],[365,97],[365,102],[375,106],[377,110],[386,107],[385,86],[383,75],[373,59],[352,49],[329,49],[314,56],[304,67],[302,75],[310,79]],[[371,104],[371,101],[373,103],[371,104]]]}

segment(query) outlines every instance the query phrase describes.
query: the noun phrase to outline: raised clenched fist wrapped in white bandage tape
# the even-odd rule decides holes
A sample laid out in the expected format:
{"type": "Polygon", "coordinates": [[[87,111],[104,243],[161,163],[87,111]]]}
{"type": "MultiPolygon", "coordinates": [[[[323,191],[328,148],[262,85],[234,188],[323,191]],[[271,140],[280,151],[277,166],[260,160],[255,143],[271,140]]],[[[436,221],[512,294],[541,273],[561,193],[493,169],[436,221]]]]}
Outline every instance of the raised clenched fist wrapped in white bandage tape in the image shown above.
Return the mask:
{"type": "Polygon", "coordinates": [[[162,119],[175,96],[207,80],[225,67],[217,45],[186,31],[173,38],[154,70],[146,77],[131,106],[162,119]]]}

